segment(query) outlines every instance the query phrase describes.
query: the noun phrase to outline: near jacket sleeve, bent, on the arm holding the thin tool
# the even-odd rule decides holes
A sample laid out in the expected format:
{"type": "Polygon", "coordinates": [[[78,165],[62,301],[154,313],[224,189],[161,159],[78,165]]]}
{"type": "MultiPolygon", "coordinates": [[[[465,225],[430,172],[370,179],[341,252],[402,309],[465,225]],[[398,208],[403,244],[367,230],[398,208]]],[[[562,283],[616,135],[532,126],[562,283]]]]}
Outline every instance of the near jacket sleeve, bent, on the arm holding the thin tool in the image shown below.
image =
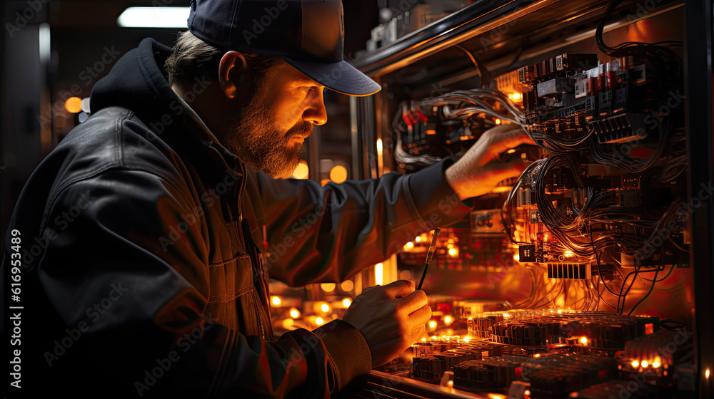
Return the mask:
{"type": "Polygon", "coordinates": [[[119,397],[328,398],[366,378],[368,346],[346,322],[268,342],[204,314],[206,226],[197,217],[162,246],[169,226],[196,212],[188,190],[149,172],[109,170],[61,188],[51,202],[44,231],[53,232],[41,236],[51,239],[28,293],[44,315],[36,328],[45,331],[33,336],[45,338],[27,345],[39,351],[28,361],[65,375],[59,384],[119,397]],[[81,338],[66,353],[52,350],[75,330],[81,338]]]}

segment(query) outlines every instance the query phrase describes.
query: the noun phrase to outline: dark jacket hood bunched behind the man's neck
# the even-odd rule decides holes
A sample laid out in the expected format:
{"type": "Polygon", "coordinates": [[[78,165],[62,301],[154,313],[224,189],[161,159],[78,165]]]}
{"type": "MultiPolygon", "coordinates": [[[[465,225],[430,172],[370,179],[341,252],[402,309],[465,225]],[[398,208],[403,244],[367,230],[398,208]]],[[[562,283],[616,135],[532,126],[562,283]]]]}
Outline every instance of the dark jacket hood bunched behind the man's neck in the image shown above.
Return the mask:
{"type": "Polygon", "coordinates": [[[176,99],[164,74],[164,61],[171,47],[145,38],[138,48],[116,61],[109,74],[101,78],[91,90],[91,113],[102,108],[119,106],[139,111],[161,111],[176,99]]]}

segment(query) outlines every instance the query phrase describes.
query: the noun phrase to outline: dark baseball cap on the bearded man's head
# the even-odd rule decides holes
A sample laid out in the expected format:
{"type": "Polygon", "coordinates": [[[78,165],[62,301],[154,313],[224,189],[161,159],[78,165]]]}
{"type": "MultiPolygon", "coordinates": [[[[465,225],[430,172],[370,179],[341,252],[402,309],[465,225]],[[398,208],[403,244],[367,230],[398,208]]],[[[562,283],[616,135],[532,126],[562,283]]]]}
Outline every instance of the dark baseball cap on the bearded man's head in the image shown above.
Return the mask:
{"type": "Polygon", "coordinates": [[[188,30],[219,48],[281,57],[338,93],[381,89],[344,60],[341,0],[193,0],[188,30]]]}

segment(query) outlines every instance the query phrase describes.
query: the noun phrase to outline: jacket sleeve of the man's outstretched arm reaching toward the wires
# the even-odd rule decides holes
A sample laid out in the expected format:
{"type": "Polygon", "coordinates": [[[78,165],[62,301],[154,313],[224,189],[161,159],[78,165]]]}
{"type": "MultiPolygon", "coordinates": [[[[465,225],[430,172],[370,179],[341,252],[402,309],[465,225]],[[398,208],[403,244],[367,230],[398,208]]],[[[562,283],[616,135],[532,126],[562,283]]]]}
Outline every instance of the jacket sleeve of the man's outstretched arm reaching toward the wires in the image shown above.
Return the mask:
{"type": "Polygon", "coordinates": [[[462,219],[471,201],[460,201],[446,182],[452,163],[324,187],[249,174],[249,198],[264,215],[271,278],[292,286],[343,281],[419,234],[462,219]]]}

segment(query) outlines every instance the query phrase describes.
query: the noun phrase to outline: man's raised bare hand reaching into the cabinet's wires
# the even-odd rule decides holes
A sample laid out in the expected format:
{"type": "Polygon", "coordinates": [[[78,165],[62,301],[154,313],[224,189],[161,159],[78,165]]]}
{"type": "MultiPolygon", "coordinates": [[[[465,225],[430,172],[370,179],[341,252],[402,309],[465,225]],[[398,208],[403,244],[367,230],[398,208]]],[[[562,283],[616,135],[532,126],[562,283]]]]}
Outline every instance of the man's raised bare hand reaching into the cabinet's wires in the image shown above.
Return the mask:
{"type": "Polygon", "coordinates": [[[446,181],[458,199],[484,195],[501,180],[518,177],[526,168],[520,159],[500,162],[503,152],[521,144],[535,145],[518,125],[498,125],[486,130],[466,154],[446,170],[446,181]]]}

